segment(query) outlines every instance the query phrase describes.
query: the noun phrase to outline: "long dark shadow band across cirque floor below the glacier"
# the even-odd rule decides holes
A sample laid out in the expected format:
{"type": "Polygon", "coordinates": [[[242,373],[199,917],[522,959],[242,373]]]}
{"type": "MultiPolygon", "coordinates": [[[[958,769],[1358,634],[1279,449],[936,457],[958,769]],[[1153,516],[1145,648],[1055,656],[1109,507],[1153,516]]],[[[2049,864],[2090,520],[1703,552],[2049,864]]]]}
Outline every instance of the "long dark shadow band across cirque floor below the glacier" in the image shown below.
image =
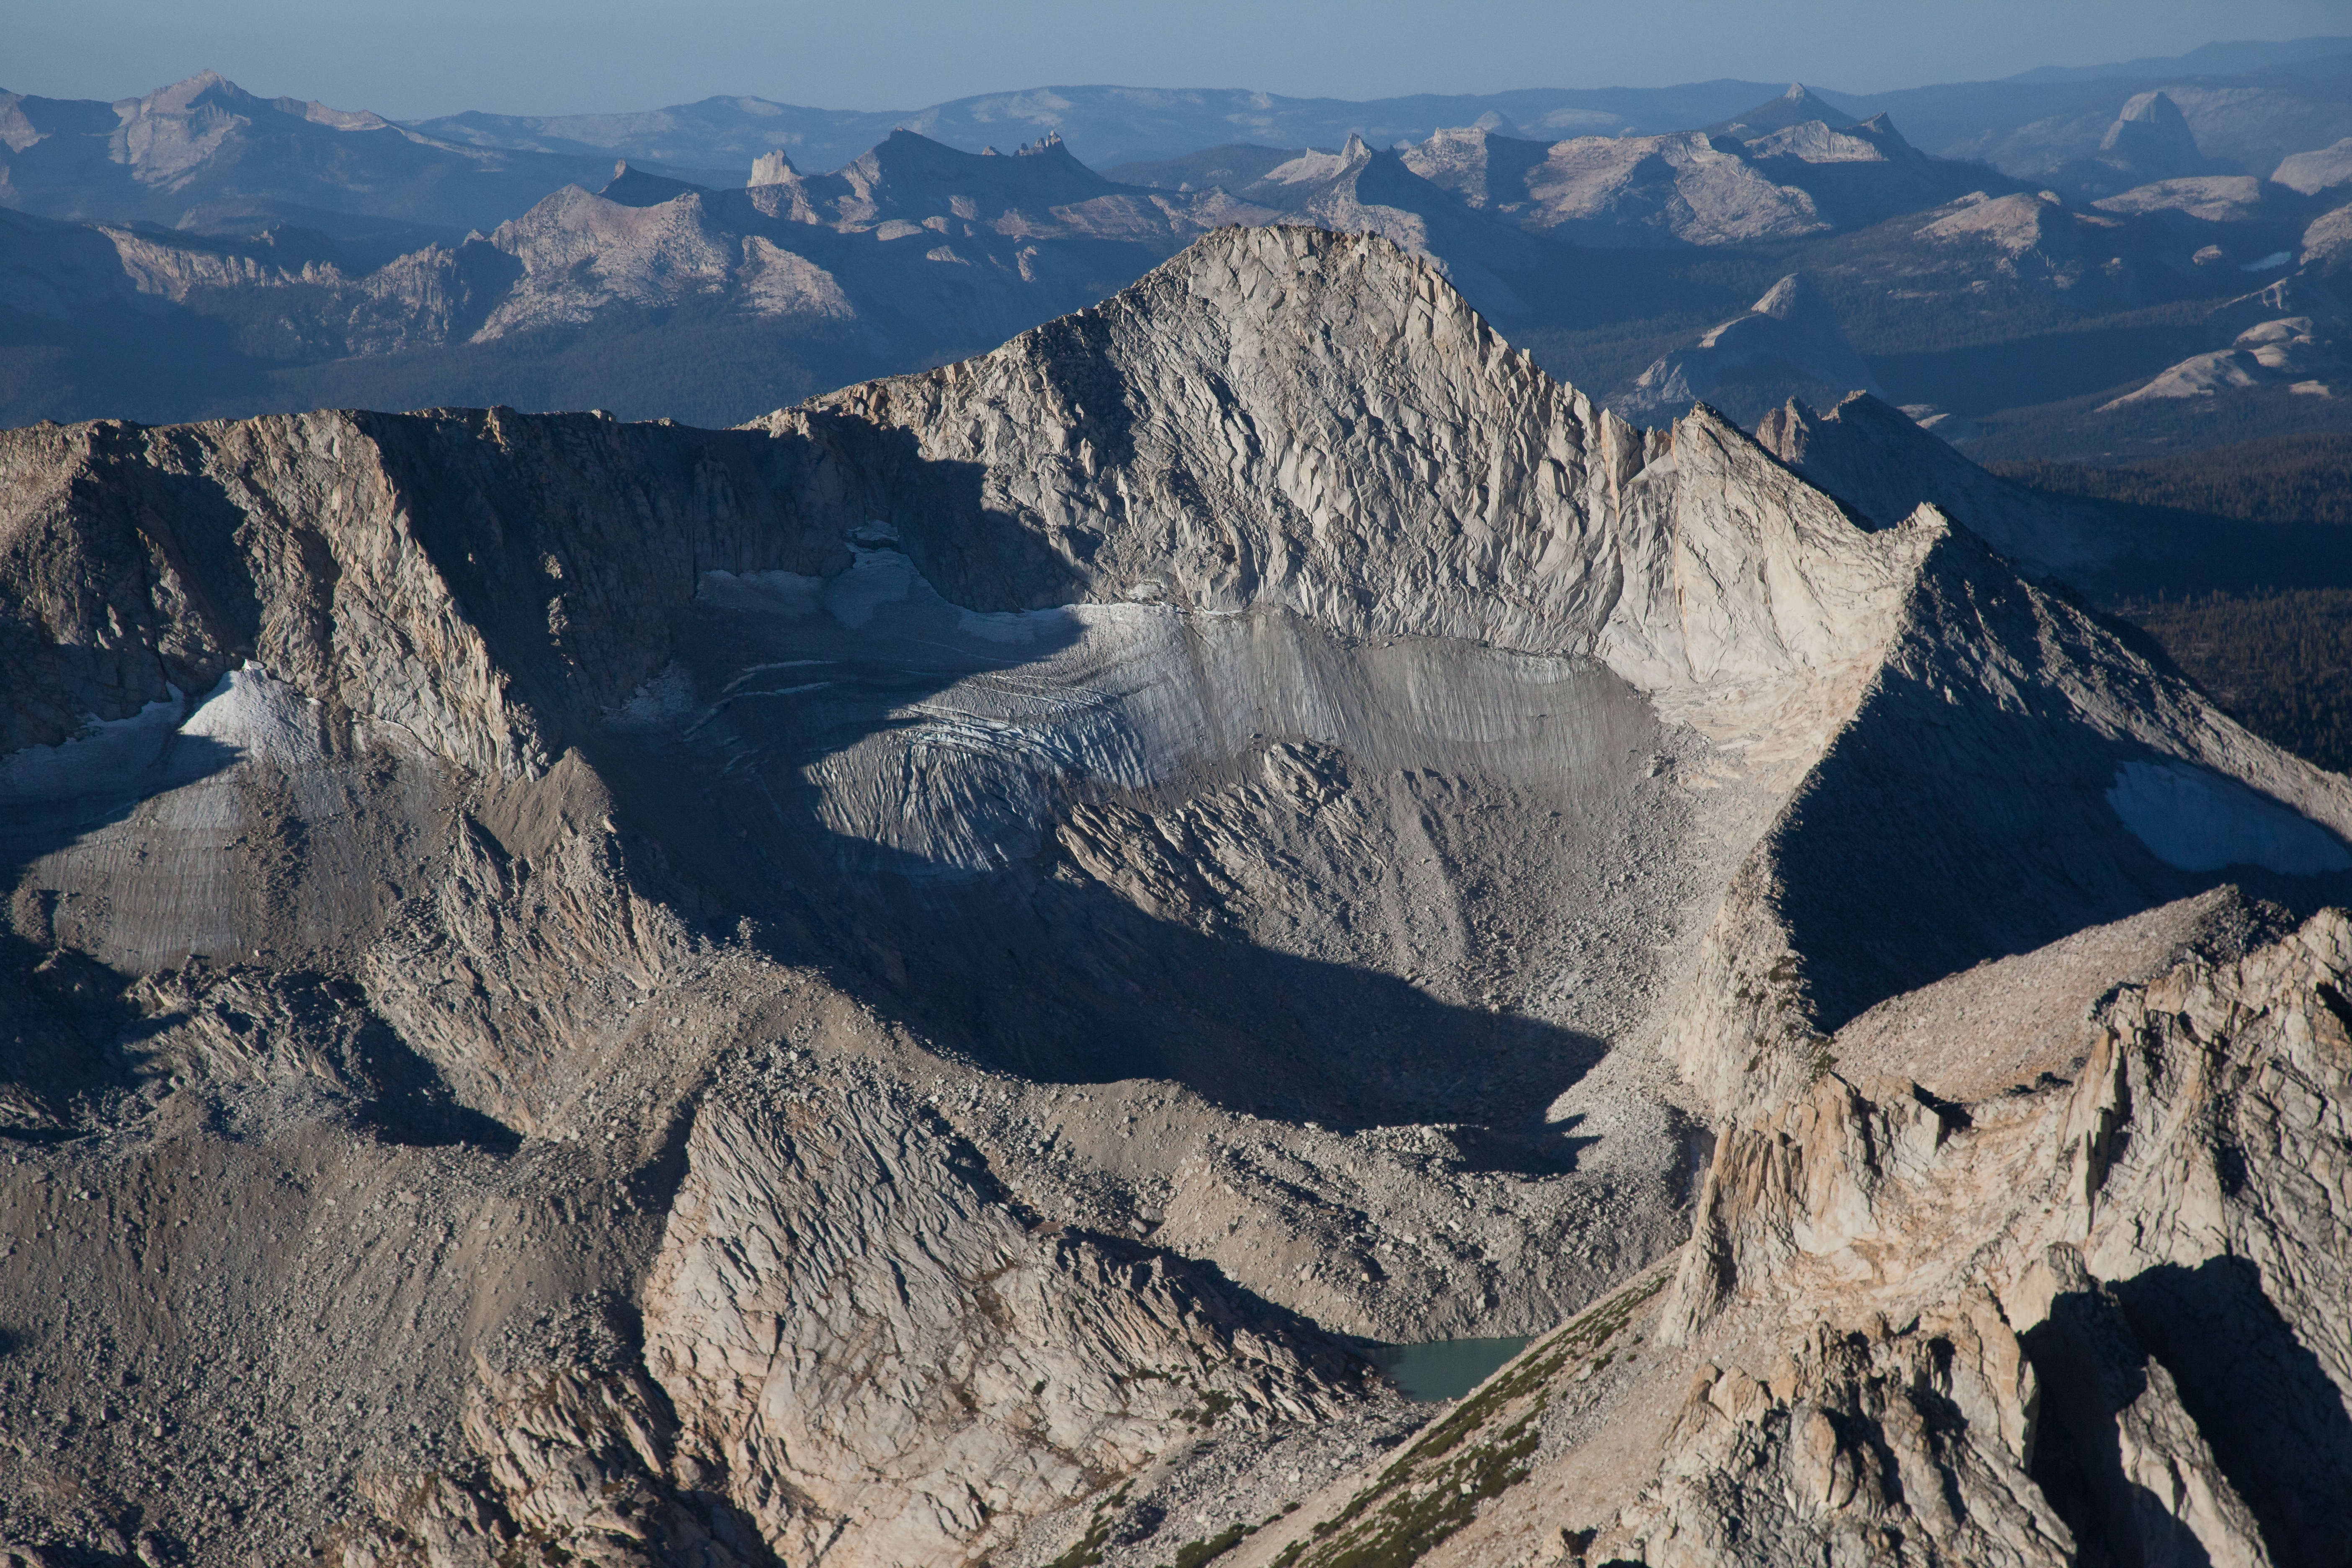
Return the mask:
{"type": "MultiPolygon", "coordinates": [[[[929,691],[901,682],[901,708],[929,691]]],[[[783,769],[612,738],[588,752],[619,820],[659,844],[647,860],[677,884],[659,896],[779,931],[776,957],[830,971],[941,1051],[1058,1084],[1169,1079],[1331,1128],[1465,1124],[1461,1157],[1486,1168],[1559,1171],[1590,1143],[1545,1110],[1599,1060],[1595,1037],[1150,914],[1063,865],[1049,835],[1000,870],[941,875],[830,832],[783,769]]]]}

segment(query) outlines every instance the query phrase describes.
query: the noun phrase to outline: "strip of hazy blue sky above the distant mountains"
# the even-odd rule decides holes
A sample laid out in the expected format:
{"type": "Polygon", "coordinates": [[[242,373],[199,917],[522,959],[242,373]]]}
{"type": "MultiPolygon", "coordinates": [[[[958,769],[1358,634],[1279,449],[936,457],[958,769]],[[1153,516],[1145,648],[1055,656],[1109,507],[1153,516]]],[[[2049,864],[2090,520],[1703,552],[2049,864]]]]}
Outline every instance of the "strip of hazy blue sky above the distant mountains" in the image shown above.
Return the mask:
{"type": "Polygon", "coordinates": [[[1124,82],[1371,99],[1738,75],[1849,92],[2352,33],[2352,0],[0,0],[0,87],[221,71],[395,118],[1124,82]]]}

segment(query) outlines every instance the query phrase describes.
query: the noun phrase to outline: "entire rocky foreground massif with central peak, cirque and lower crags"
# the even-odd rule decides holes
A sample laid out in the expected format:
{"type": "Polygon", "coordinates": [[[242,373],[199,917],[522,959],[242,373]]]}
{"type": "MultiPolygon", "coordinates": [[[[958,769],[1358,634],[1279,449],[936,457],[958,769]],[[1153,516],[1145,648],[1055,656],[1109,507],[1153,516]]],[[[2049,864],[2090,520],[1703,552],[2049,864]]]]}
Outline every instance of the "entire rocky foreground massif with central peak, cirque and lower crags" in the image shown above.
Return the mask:
{"type": "Polygon", "coordinates": [[[2345,1561],[2352,783],[1766,442],[1310,228],[0,435],[7,1554],[2345,1561]]]}

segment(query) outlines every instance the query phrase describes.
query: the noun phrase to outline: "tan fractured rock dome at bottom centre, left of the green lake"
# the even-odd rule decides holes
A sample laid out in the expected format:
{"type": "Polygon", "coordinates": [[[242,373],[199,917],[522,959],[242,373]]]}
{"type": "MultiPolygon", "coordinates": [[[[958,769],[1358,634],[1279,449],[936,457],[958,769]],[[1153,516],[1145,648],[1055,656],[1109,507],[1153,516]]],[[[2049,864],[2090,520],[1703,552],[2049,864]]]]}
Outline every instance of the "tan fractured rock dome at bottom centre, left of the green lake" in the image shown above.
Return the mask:
{"type": "Polygon", "coordinates": [[[687,1161],[647,1363],[786,1561],[988,1552],[1190,1422],[1352,1396],[1336,1347],[1263,1338],[1211,1279],[1023,1215],[903,1093],[710,1107],[687,1161]]]}

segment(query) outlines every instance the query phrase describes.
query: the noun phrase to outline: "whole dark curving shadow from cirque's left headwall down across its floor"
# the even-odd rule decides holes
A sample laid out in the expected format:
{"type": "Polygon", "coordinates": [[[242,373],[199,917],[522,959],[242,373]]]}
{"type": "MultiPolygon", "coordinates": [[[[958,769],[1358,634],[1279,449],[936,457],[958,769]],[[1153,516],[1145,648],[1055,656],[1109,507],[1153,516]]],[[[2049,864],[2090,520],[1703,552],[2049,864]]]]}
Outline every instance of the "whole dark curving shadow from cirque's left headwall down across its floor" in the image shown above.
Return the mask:
{"type": "MultiPolygon", "coordinates": [[[[1054,360],[1054,395],[1084,409],[1089,440],[1124,451],[1120,404],[1096,386],[1094,327],[1051,331],[1068,339],[1056,339],[1065,353],[1054,360]]],[[[1157,919],[1098,882],[1058,875],[1068,867],[1056,865],[1049,825],[983,875],[941,875],[922,856],[826,825],[807,764],[915,722],[920,703],[967,675],[1016,677],[1065,649],[1075,623],[978,651],[920,639],[830,649],[847,656],[828,661],[830,684],[856,684],[873,701],[809,717],[795,741],[802,755],[764,769],[724,750],[734,719],[701,738],[607,726],[677,656],[727,670],[708,693],[717,705],[802,701],[783,689],[720,696],[736,670],[795,651],[760,646],[755,625],[710,623],[696,602],[701,576],[833,583],[854,559],[847,541],[875,524],[896,534],[950,611],[1075,597],[1073,564],[990,508],[978,465],[924,458],[910,433],[854,411],[795,418],[797,428],[764,435],[499,411],[442,435],[421,421],[386,421],[379,433],[419,498],[419,536],[496,665],[515,670],[517,689],[553,719],[548,741],[576,745],[614,792],[623,837],[652,846],[630,858],[647,896],[708,931],[743,919],[781,931],[779,957],[823,964],[941,1048],[1025,1077],[1162,1077],[1230,1110],[1331,1126],[1465,1121],[1484,1128],[1472,1143],[1486,1159],[1531,1168],[1573,1159],[1543,1112],[1599,1058],[1597,1039],[1157,919]],[[496,440],[513,456],[487,484],[456,475],[437,456],[459,435],[496,440]],[[586,491],[576,505],[553,503],[546,484],[572,487],[569,473],[623,475],[630,503],[586,491]],[[557,592],[560,635],[546,609],[557,592]],[[699,656],[696,639],[710,644],[699,656]]],[[[743,748],[750,738],[736,736],[743,748]]]]}

